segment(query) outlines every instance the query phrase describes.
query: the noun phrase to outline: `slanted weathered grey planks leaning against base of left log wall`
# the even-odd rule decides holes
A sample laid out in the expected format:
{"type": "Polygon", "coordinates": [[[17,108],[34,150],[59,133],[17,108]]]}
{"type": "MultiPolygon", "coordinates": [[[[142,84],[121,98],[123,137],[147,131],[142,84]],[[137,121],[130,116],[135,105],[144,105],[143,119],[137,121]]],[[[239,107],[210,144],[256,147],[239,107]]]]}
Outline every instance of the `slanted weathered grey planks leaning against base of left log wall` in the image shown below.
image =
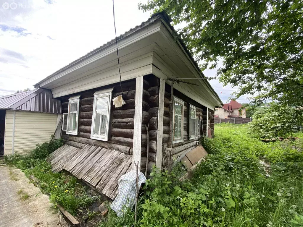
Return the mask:
{"type": "Polygon", "coordinates": [[[54,172],[65,169],[111,199],[117,196],[120,176],[132,168],[132,155],[92,145],[79,149],[65,144],[48,161],[54,172]]]}

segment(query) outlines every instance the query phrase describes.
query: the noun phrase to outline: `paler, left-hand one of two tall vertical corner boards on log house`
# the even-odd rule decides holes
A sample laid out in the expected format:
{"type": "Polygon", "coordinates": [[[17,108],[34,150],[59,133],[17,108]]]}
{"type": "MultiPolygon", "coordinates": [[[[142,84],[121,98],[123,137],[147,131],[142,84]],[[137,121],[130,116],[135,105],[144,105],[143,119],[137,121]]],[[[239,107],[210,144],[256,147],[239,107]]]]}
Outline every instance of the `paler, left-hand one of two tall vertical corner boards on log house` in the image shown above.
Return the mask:
{"type": "Polygon", "coordinates": [[[143,76],[136,78],[135,94],[135,117],[134,117],[134,140],[133,140],[133,164],[132,169],[136,170],[134,162],[141,166],[141,137],[142,137],[142,101],[143,101],[143,76]]]}

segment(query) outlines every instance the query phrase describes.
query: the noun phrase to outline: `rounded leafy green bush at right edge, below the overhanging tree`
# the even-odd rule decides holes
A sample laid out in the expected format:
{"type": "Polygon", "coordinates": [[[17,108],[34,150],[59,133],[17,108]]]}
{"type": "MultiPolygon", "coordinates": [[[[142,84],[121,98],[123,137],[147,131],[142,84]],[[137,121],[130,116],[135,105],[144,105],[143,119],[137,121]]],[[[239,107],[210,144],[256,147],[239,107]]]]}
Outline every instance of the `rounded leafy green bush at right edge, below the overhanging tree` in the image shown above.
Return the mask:
{"type": "Polygon", "coordinates": [[[252,118],[249,131],[266,139],[289,136],[302,124],[300,110],[281,104],[271,104],[263,111],[257,111],[252,118]]]}

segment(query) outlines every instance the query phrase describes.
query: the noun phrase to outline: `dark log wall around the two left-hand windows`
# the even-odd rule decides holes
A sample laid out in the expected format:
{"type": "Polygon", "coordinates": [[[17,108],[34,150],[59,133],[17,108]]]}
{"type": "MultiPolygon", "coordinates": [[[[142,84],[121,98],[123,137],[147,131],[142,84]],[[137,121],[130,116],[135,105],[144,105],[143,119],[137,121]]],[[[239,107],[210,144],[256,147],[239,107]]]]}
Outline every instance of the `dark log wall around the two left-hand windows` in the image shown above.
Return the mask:
{"type": "MultiPolygon", "coordinates": [[[[132,154],[133,137],[134,137],[134,116],[135,116],[135,87],[136,81],[130,80],[120,83],[112,84],[110,86],[99,87],[96,89],[88,90],[82,93],[72,94],[61,97],[63,113],[68,112],[68,99],[75,95],[80,96],[79,105],[79,119],[78,119],[78,135],[66,135],[65,131],[62,131],[62,137],[66,140],[65,143],[74,144],[77,147],[81,147],[83,144],[91,144],[96,146],[102,146],[112,150],[118,150],[126,154],[132,154]],[[108,141],[94,140],[90,138],[92,127],[92,114],[94,104],[94,93],[98,90],[103,90],[109,87],[114,87],[112,92],[112,99],[118,95],[122,95],[126,104],[122,107],[115,108],[113,102],[111,103],[111,114],[108,141]]],[[[147,133],[145,129],[145,123],[150,120],[148,113],[150,98],[147,92],[149,88],[147,81],[143,83],[143,104],[142,104],[142,152],[141,155],[146,157],[147,147],[147,133]]],[[[145,158],[146,163],[146,158],[145,158]]],[[[145,168],[145,166],[144,166],[145,168]]]]}

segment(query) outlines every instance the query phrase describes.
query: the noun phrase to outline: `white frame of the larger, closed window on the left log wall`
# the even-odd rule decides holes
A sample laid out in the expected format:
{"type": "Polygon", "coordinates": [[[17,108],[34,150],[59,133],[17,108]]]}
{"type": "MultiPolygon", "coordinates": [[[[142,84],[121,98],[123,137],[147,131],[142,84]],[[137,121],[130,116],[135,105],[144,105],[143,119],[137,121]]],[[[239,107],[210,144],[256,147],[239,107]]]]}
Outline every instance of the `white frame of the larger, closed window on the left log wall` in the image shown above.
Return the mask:
{"type": "MultiPolygon", "coordinates": [[[[108,88],[108,89],[105,89],[105,90],[96,91],[95,94],[94,94],[91,139],[108,141],[108,130],[109,130],[109,120],[110,120],[110,116],[111,116],[111,106],[112,106],[111,104],[112,104],[112,91],[113,91],[113,89],[114,88],[112,87],[112,88],[108,88]],[[108,108],[107,108],[105,135],[94,135],[97,100],[101,99],[101,98],[105,98],[105,97],[108,97],[108,108]]],[[[102,123],[102,118],[100,119],[100,126],[101,126],[101,123],[102,123]]]]}

